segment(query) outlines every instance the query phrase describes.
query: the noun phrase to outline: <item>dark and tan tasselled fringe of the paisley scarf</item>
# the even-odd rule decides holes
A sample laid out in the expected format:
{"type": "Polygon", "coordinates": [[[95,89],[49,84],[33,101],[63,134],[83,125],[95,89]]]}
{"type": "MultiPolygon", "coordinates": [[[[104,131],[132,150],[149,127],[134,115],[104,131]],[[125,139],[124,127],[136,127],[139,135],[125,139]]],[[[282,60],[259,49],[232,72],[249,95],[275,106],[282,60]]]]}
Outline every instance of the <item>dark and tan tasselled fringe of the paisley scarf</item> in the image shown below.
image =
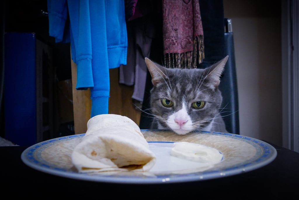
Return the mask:
{"type": "Polygon", "coordinates": [[[183,53],[165,53],[164,66],[167,68],[197,68],[205,58],[204,36],[199,35],[193,40],[193,51],[183,53]]]}

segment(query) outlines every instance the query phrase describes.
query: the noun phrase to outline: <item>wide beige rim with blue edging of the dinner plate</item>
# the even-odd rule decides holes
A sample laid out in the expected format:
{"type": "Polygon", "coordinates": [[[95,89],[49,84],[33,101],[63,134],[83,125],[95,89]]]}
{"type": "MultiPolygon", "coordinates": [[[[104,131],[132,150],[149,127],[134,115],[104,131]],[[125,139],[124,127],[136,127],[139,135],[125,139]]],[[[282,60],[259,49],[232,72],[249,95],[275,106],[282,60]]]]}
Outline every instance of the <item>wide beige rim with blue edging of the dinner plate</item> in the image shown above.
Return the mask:
{"type": "MultiPolygon", "coordinates": [[[[45,159],[45,156],[43,156],[46,151],[52,151],[51,147],[53,147],[53,145],[62,144],[63,146],[64,143],[72,144],[76,140],[78,142],[85,135],[84,133],[39,142],[25,149],[21,154],[21,159],[26,165],[33,169],[66,178],[122,184],[165,184],[201,181],[237,175],[263,167],[271,163],[277,156],[276,149],[268,143],[251,137],[231,133],[200,131],[185,136],[176,135],[173,137],[175,134],[167,133],[163,130],[141,130],[141,132],[144,134],[149,144],[153,142],[179,142],[182,140],[190,140],[190,142],[197,141],[196,143],[217,148],[221,153],[223,153],[224,159],[214,167],[201,172],[181,174],[167,172],[165,174],[158,174],[152,177],[132,174],[91,175],[78,173],[74,170],[74,168],[60,166],[51,159],[45,159]],[[155,140],[156,138],[157,140],[155,140]],[[171,140],[169,140],[170,138],[171,140]],[[174,141],[174,138],[176,141],[174,141]]],[[[62,151],[55,151],[55,156],[62,156],[60,152],[64,151],[63,149],[61,150],[62,151]]],[[[71,152],[71,149],[68,149],[68,152],[71,152]]],[[[47,153],[51,154],[51,152],[47,153]]],[[[65,157],[65,155],[63,156],[65,157]]]]}

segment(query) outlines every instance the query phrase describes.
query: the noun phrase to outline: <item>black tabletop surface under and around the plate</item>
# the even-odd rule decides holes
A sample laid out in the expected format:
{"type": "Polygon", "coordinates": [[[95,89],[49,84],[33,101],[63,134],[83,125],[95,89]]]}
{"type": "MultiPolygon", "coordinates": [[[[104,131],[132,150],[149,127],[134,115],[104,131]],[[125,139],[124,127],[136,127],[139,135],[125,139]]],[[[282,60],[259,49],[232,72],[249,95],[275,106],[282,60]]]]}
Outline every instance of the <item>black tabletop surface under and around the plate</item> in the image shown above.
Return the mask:
{"type": "Polygon", "coordinates": [[[165,184],[100,183],[51,175],[22,162],[21,154],[29,146],[5,146],[0,147],[0,191],[1,196],[38,199],[299,199],[299,153],[269,144],[277,150],[277,157],[259,169],[210,180],[165,184]]]}

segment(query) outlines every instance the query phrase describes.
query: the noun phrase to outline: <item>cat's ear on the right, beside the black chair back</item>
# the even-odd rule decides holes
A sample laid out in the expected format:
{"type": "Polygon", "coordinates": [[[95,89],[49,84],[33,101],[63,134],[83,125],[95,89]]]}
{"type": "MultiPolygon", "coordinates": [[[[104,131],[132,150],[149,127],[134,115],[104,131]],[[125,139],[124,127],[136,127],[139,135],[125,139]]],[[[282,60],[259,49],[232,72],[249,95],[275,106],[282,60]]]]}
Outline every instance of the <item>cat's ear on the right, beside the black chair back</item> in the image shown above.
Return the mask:
{"type": "Polygon", "coordinates": [[[215,88],[217,88],[220,83],[220,76],[224,70],[224,66],[227,60],[228,55],[221,61],[218,61],[217,63],[206,69],[207,77],[215,88]]]}

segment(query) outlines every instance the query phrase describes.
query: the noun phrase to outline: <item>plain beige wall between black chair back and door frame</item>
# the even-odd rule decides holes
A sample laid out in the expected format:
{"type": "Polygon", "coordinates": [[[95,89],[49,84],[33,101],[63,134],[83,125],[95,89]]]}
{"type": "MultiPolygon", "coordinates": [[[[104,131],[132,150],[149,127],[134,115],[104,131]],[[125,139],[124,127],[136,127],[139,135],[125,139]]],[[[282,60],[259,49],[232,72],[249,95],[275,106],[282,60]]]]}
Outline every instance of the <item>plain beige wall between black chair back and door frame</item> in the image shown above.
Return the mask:
{"type": "Polygon", "coordinates": [[[224,0],[224,17],[234,33],[240,135],[282,145],[280,1],[224,0]]]}

